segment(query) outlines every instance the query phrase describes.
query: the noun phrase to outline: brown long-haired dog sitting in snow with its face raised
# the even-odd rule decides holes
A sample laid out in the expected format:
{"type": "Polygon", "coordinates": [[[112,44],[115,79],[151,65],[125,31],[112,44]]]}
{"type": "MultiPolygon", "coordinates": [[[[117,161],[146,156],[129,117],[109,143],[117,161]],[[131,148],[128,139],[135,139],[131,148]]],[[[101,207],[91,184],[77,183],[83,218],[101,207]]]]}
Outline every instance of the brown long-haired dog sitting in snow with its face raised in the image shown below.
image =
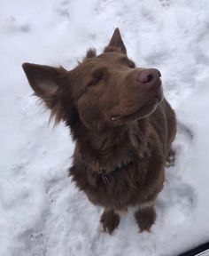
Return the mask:
{"type": "Polygon", "coordinates": [[[141,231],[150,230],[176,132],[159,70],[135,68],[118,28],[102,54],[89,50],[73,70],[29,63],[23,69],[55,122],[69,126],[75,140],[69,173],[104,207],[104,230],[112,233],[119,212],[131,205],[138,206],[141,231]]]}

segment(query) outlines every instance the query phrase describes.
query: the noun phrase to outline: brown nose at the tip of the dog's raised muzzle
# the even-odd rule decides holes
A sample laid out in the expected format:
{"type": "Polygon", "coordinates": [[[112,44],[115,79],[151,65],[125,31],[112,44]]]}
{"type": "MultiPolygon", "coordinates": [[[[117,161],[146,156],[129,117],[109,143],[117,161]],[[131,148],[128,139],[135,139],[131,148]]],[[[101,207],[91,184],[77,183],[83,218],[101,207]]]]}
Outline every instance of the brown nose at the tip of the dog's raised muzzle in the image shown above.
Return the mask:
{"type": "Polygon", "coordinates": [[[139,73],[139,75],[137,76],[137,80],[142,84],[148,84],[151,82],[158,81],[160,76],[161,74],[158,69],[148,68],[144,69],[139,73]]]}

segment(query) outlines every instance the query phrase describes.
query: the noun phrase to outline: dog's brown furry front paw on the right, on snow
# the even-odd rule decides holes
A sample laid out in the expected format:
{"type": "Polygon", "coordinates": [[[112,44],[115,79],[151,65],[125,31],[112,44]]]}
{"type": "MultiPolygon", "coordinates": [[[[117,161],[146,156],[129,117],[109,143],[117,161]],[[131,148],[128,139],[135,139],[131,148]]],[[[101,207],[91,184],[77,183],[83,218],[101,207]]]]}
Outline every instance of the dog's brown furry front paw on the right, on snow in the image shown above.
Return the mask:
{"type": "Polygon", "coordinates": [[[144,230],[151,232],[151,226],[156,220],[156,212],[154,207],[145,208],[135,212],[135,220],[140,228],[140,231],[144,230]]]}

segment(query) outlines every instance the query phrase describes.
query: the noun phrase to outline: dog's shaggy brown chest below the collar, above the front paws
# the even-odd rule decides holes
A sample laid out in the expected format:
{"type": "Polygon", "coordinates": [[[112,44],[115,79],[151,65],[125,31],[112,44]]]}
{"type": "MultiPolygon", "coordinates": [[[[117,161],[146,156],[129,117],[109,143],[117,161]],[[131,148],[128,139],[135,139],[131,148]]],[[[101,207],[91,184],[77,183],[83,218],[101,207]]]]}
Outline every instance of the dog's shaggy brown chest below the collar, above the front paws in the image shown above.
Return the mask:
{"type": "Polygon", "coordinates": [[[124,209],[128,205],[144,201],[144,180],[146,180],[146,164],[128,164],[125,169],[109,174],[97,174],[96,186],[86,190],[93,204],[111,205],[115,209],[124,209]]]}

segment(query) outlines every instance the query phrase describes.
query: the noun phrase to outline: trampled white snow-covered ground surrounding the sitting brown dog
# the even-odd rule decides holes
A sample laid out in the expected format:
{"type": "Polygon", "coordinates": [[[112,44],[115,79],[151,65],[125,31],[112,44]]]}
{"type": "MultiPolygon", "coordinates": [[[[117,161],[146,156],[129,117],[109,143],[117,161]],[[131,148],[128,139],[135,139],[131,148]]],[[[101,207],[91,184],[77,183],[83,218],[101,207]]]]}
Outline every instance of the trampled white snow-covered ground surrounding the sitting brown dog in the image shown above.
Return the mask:
{"type": "Polygon", "coordinates": [[[172,256],[209,239],[208,0],[0,0],[0,56],[1,256],[172,256]],[[130,209],[109,236],[67,178],[69,132],[48,128],[21,63],[73,68],[116,27],[138,66],[161,71],[181,125],[152,232],[130,209]]]}

